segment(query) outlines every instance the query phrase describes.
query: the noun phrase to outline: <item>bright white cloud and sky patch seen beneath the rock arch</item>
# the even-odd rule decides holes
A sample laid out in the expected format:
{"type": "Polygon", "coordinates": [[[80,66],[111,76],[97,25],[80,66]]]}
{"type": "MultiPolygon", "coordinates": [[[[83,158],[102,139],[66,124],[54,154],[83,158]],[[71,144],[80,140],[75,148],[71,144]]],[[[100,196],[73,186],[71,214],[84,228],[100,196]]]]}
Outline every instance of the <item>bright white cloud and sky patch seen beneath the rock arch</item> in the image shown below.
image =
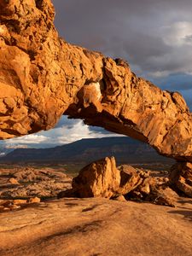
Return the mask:
{"type": "MultiPolygon", "coordinates": [[[[95,137],[117,137],[119,135],[114,133],[107,133],[101,129],[94,129],[91,131],[88,125],[84,125],[80,119],[67,119],[63,116],[60,122],[54,129],[49,131],[40,131],[37,134],[26,135],[24,137],[16,137],[4,141],[6,148],[23,148],[25,145],[32,147],[52,147],[53,145],[61,145],[67,143],[73,143],[83,138],[95,138],[95,137]]],[[[1,144],[3,144],[1,143],[1,144]]]]}

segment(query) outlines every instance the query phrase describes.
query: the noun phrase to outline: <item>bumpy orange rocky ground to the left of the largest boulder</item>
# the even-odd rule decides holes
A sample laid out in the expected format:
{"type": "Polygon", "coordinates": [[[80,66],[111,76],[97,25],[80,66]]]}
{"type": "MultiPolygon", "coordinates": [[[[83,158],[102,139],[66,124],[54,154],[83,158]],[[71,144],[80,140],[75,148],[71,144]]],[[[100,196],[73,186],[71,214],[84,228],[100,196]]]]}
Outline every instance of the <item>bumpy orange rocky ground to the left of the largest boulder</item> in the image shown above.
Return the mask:
{"type": "Polygon", "coordinates": [[[0,169],[0,199],[55,197],[70,189],[72,178],[51,168],[18,167],[0,169]]]}

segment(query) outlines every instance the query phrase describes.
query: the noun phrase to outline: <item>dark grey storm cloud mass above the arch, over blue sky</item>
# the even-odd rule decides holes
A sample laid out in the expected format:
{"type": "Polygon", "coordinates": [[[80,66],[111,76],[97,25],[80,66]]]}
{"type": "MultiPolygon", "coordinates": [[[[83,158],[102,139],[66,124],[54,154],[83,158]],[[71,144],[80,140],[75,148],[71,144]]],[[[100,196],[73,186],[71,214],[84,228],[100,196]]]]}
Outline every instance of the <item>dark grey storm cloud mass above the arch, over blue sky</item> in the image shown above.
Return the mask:
{"type": "Polygon", "coordinates": [[[55,0],[61,36],[123,57],[150,79],[192,73],[190,0],[55,0]]]}

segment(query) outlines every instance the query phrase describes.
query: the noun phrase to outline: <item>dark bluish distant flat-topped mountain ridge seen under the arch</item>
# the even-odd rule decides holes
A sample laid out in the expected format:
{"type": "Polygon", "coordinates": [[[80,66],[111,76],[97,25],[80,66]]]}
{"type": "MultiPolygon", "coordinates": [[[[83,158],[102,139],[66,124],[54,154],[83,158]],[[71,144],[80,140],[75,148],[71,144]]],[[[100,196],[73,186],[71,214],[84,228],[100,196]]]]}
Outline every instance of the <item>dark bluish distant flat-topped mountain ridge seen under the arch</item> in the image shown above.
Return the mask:
{"type": "Polygon", "coordinates": [[[169,162],[154,148],[130,137],[82,139],[55,148],[17,148],[3,162],[89,163],[113,155],[119,163],[169,162]]]}

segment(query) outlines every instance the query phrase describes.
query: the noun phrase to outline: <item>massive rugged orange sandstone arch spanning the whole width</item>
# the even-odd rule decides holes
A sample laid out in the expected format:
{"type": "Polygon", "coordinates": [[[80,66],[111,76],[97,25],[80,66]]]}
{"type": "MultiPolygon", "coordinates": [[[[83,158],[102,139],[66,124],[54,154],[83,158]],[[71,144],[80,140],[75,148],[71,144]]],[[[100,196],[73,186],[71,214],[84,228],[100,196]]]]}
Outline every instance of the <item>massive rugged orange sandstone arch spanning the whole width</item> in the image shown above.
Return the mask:
{"type": "Polygon", "coordinates": [[[0,0],[0,138],[53,127],[62,114],[192,161],[192,115],[177,92],[125,61],[67,44],[49,0],[0,0]]]}

